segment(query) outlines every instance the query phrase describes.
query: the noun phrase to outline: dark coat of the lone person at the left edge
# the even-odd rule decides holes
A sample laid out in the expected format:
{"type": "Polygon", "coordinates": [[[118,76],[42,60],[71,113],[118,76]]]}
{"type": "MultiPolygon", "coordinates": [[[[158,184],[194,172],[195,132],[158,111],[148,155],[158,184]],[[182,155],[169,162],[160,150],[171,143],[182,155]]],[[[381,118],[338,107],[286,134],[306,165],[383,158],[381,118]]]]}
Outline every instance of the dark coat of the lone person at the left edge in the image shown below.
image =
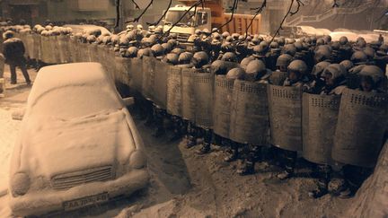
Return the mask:
{"type": "Polygon", "coordinates": [[[5,62],[10,65],[23,65],[25,63],[25,48],[21,39],[6,39],[3,43],[5,62]]]}

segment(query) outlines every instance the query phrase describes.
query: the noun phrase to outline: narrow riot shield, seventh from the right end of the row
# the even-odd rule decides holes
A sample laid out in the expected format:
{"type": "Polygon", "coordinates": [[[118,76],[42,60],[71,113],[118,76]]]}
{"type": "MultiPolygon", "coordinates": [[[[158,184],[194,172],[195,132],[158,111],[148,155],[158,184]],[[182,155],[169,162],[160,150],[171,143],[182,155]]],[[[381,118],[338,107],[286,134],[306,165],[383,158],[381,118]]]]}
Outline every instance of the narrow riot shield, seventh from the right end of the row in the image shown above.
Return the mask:
{"type": "Polygon", "coordinates": [[[196,102],[194,99],[195,96],[195,75],[197,74],[196,69],[192,68],[182,68],[182,118],[190,120],[195,123],[195,112],[196,112],[196,102]]]}

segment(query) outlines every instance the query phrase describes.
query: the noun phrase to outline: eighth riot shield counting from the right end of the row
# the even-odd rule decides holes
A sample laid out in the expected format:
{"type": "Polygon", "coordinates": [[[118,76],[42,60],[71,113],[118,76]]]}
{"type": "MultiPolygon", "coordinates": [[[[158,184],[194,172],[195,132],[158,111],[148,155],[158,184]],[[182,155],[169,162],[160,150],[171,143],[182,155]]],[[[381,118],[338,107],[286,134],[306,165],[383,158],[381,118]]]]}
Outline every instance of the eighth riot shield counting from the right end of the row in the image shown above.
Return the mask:
{"type": "Polygon", "coordinates": [[[182,117],[182,74],[181,68],[171,66],[167,79],[167,113],[182,117]]]}

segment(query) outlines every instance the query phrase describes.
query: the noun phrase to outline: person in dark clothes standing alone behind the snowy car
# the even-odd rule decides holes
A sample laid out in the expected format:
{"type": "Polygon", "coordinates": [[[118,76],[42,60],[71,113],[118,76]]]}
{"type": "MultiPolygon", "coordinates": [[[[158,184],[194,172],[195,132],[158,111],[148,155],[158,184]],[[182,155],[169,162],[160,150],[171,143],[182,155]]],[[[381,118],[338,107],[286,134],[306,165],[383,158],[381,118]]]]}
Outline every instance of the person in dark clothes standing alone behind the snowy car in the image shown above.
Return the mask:
{"type": "Polygon", "coordinates": [[[5,63],[10,65],[11,84],[16,84],[16,66],[22,70],[22,74],[27,84],[31,84],[30,75],[27,72],[26,59],[24,57],[25,48],[21,39],[13,37],[13,31],[6,31],[3,35],[5,63]]]}

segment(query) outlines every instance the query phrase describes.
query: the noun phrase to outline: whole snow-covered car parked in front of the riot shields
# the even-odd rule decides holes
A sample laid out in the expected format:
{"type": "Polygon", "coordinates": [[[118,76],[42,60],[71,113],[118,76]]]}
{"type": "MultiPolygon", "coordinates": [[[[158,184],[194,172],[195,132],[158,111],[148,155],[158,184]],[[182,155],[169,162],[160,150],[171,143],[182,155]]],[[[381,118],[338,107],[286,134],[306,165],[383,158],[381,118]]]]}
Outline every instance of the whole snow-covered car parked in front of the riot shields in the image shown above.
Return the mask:
{"type": "Polygon", "coordinates": [[[14,215],[100,204],[148,183],[142,139],[98,63],[42,68],[21,126],[10,169],[14,215]]]}

